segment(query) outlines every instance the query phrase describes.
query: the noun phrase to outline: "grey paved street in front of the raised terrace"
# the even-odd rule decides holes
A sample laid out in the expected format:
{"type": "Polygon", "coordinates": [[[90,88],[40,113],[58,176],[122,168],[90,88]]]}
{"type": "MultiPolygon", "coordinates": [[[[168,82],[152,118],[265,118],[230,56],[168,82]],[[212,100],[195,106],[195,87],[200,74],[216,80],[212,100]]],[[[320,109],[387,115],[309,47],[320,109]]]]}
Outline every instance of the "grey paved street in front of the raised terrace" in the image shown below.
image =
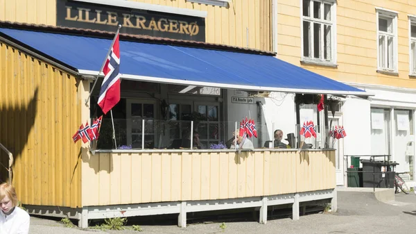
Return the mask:
{"type": "MultiPolygon", "coordinates": [[[[32,234],[42,233],[138,233],[135,231],[83,231],[66,228],[49,219],[31,219],[32,234]]],[[[257,222],[227,222],[225,230],[218,223],[191,224],[187,228],[175,225],[141,226],[141,233],[416,233],[416,195],[397,194],[396,201],[382,203],[367,192],[338,192],[338,212],[301,216],[299,221],[289,218],[257,222]]]]}

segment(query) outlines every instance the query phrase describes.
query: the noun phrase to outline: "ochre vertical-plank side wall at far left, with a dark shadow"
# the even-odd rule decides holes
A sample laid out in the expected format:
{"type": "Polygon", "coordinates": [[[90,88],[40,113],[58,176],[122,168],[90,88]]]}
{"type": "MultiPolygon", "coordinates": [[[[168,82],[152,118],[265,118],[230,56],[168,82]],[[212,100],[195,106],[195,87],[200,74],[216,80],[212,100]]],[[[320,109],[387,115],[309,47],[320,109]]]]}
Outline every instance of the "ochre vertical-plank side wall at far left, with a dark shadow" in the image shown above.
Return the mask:
{"type": "MultiPolygon", "coordinates": [[[[79,207],[79,82],[0,42],[0,142],[15,158],[13,185],[24,204],[79,207]]],[[[1,163],[7,165],[1,154],[1,163]]],[[[6,172],[1,170],[1,180],[6,172]]]]}

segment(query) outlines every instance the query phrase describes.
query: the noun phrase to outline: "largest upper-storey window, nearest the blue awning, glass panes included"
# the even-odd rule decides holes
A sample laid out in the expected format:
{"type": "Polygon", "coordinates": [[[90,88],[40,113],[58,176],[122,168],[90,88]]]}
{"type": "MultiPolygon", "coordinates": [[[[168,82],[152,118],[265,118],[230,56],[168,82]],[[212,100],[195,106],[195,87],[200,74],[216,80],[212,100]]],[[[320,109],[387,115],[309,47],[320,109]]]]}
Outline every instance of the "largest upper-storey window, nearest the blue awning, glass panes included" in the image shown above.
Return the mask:
{"type": "Polygon", "coordinates": [[[302,61],[336,63],[336,5],[302,0],[302,61]]]}

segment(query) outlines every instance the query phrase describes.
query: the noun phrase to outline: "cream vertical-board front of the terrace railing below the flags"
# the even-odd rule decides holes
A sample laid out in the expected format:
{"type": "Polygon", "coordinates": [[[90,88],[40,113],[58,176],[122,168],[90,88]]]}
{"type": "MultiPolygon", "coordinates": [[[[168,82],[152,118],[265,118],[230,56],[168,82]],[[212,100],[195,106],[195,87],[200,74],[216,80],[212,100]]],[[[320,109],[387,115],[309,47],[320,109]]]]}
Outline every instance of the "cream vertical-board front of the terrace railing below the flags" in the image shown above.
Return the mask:
{"type": "Polygon", "coordinates": [[[83,155],[83,206],[233,199],[335,187],[334,151],[83,155]]]}

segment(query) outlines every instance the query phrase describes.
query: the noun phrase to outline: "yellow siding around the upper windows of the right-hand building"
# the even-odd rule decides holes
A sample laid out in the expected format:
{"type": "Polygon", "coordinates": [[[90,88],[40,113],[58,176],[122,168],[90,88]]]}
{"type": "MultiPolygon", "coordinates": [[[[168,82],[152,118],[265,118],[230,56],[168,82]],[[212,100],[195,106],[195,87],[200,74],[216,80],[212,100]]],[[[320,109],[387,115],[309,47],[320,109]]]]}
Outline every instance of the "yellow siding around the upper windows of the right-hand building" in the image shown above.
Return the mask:
{"type": "Polygon", "coordinates": [[[336,1],[337,65],[301,65],[300,2],[277,1],[278,58],[337,81],[416,88],[409,77],[408,15],[416,12],[416,1],[336,1]],[[377,73],[376,7],[398,12],[399,75],[377,73]]]}

